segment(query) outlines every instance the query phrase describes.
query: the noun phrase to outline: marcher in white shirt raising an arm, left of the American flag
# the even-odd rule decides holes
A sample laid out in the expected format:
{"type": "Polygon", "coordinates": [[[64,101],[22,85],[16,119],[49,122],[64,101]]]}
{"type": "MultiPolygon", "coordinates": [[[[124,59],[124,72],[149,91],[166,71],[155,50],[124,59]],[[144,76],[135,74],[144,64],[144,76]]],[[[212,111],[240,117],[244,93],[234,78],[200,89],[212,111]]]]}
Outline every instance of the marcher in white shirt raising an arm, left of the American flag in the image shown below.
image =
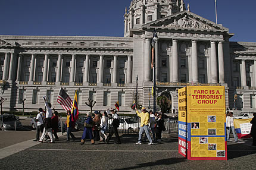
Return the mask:
{"type": "Polygon", "coordinates": [[[54,137],[52,136],[52,128],[51,128],[52,105],[51,103],[47,103],[45,97],[43,97],[43,100],[45,100],[45,106],[46,106],[45,128],[43,129],[43,134],[40,137],[39,142],[43,142],[43,138],[45,138],[46,133],[48,133],[48,136],[51,138],[50,143],[54,143],[54,137]]]}

